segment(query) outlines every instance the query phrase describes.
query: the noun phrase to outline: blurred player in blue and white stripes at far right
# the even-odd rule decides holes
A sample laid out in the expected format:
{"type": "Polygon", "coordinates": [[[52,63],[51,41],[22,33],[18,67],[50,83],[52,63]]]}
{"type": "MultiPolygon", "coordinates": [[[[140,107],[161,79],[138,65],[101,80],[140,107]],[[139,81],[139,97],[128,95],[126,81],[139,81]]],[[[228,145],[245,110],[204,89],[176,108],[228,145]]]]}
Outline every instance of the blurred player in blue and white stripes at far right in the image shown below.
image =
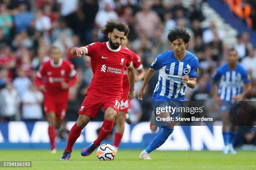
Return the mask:
{"type": "Polygon", "coordinates": [[[228,112],[232,101],[242,100],[251,90],[250,79],[246,68],[238,62],[237,52],[233,48],[228,50],[228,62],[218,67],[212,75],[211,93],[220,105],[223,120],[224,154],[236,154],[233,148],[236,138],[236,126],[230,125],[230,129],[228,129],[228,112]]]}

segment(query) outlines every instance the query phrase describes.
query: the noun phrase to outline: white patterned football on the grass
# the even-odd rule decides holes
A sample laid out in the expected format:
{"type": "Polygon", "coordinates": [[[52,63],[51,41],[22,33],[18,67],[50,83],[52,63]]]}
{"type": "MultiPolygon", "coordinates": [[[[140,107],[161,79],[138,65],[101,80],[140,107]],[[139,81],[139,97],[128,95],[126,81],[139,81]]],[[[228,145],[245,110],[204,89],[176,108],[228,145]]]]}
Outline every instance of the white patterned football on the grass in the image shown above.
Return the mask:
{"type": "Polygon", "coordinates": [[[115,148],[110,144],[102,144],[97,149],[96,156],[99,160],[114,160],[115,148]]]}

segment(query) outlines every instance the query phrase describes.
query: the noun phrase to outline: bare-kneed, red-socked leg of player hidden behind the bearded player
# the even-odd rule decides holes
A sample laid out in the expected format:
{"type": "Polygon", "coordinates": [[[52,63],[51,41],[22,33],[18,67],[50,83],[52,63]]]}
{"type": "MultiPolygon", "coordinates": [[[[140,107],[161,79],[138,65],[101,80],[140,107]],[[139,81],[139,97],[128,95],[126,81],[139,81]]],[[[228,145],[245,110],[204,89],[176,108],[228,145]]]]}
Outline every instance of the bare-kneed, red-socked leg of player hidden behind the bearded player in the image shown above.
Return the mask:
{"type": "Polygon", "coordinates": [[[117,152],[121,139],[123,137],[123,133],[125,130],[125,112],[120,111],[118,112],[118,115],[116,116],[116,123],[117,123],[117,128],[115,130],[115,138],[114,138],[114,147],[115,151],[117,152]]]}

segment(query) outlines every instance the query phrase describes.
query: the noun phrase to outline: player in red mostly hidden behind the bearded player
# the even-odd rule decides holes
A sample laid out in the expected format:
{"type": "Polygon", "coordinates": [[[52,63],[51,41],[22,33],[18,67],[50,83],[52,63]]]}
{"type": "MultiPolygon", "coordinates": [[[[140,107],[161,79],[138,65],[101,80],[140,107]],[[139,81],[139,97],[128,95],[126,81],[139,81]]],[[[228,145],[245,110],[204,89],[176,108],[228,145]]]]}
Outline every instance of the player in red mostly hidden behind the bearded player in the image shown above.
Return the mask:
{"type": "MultiPolygon", "coordinates": [[[[128,38],[127,36],[124,36],[121,46],[127,48],[128,44],[128,38]]],[[[128,49],[128,48],[127,48],[128,49]]],[[[142,80],[145,76],[145,70],[143,69],[141,58],[131,50],[131,53],[133,55],[133,67],[135,70],[137,70],[138,74],[135,75],[135,82],[138,82],[139,80],[142,80]]],[[[124,128],[125,128],[125,114],[128,113],[128,108],[130,105],[130,100],[128,99],[128,91],[129,91],[129,81],[127,76],[127,71],[125,69],[124,75],[123,75],[123,100],[120,103],[120,110],[118,112],[118,115],[116,117],[116,123],[117,128],[115,130],[115,138],[114,138],[114,147],[115,151],[118,150],[121,139],[123,137],[124,128]]]]}

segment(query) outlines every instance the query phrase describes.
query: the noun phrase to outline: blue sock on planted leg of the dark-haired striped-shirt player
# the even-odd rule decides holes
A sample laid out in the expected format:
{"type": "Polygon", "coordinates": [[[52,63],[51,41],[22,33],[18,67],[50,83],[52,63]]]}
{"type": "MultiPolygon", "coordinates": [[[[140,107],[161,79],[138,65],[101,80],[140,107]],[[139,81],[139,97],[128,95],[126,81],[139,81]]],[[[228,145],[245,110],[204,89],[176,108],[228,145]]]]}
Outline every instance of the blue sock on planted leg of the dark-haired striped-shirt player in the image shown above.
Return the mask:
{"type": "Polygon", "coordinates": [[[145,149],[147,153],[151,153],[156,148],[159,148],[161,145],[165,143],[169,135],[172,134],[174,128],[162,128],[161,132],[156,135],[156,137],[152,140],[152,142],[145,149]]]}

